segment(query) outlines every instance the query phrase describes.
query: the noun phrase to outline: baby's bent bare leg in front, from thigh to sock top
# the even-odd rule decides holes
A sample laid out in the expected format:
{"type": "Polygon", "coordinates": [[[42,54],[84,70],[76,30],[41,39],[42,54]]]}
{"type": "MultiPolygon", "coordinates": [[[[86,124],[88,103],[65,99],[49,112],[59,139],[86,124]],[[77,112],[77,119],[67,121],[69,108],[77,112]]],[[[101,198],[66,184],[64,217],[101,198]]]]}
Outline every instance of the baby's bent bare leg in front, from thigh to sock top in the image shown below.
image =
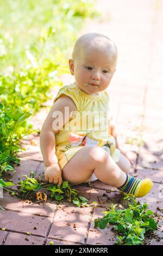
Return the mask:
{"type": "Polygon", "coordinates": [[[80,149],[62,169],[62,177],[77,185],[89,179],[93,172],[100,181],[114,187],[121,187],[126,181],[126,173],[98,146],[80,149]]]}

